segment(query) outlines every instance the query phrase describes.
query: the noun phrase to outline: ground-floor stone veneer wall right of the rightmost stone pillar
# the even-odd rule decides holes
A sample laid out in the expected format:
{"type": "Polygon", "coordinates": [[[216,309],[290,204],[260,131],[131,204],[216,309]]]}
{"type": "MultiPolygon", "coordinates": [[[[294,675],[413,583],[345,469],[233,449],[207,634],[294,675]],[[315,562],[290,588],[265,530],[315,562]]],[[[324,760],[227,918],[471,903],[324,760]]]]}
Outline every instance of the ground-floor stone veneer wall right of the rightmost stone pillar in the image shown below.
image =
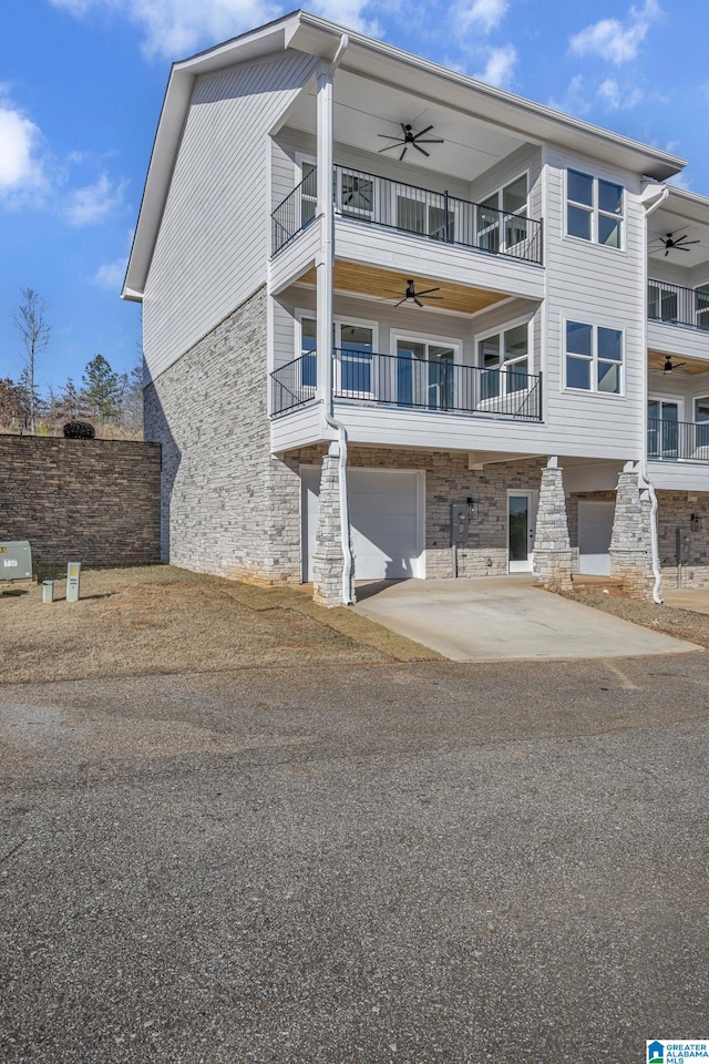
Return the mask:
{"type": "Polygon", "coordinates": [[[682,586],[709,587],[709,493],[699,493],[695,502],[689,502],[686,491],[658,491],[657,504],[662,586],[677,585],[676,529],[686,528],[691,555],[689,564],[682,566],[682,586]]]}

